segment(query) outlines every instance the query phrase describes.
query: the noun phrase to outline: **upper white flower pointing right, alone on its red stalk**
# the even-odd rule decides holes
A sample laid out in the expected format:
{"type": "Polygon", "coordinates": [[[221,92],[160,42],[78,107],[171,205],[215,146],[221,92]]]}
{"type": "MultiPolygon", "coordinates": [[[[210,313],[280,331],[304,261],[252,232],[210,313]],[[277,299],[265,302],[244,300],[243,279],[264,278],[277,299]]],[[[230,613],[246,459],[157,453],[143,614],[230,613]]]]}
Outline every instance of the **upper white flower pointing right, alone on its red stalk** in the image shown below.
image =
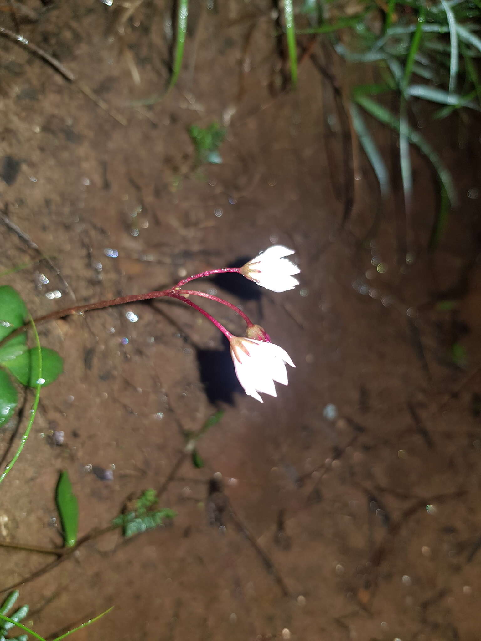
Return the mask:
{"type": "Polygon", "coordinates": [[[293,253],[294,249],[273,245],[241,267],[241,274],[273,292],[287,292],[299,285],[293,276],[299,274],[300,269],[285,258],[293,253]]]}

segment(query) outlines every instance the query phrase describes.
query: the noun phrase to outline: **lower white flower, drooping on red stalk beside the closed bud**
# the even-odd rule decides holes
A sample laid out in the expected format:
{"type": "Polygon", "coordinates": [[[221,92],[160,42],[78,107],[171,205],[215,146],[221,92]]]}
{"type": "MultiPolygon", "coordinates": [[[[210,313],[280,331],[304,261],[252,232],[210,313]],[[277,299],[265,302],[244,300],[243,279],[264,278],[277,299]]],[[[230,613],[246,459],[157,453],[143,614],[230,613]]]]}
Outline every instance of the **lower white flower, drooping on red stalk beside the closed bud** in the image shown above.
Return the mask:
{"type": "Polygon", "coordinates": [[[261,403],[258,392],[276,396],[274,381],[287,385],[285,363],[296,367],[282,347],[253,338],[230,338],[230,354],[239,383],[261,403]]]}

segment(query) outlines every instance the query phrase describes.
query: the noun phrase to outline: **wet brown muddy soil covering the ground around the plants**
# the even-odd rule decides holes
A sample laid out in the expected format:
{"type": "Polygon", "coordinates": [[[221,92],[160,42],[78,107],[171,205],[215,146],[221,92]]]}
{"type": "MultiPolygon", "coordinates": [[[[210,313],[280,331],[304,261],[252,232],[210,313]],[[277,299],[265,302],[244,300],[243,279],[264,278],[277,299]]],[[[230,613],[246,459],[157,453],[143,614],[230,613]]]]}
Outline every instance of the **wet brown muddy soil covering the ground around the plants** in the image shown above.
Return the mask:
{"type": "MultiPolygon", "coordinates": [[[[118,532],[92,540],[27,581],[27,624],[55,636],[113,605],[78,641],[478,640],[481,271],[478,201],[467,195],[479,188],[475,124],[469,135],[457,121],[426,131],[456,172],[460,207],[426,251],[436,190],[414,157],[407,237],[416,260],[405,265],[400,197],[382,206],[357,145],[354,174],[343,155],[344,85],[359,80],[358,67],[319,42],[298,90],[282,91],[269,4],[199,3],[178,87],[160,99],[170,9],[145,0],[126,17],[115,4],[39,12],[32,0],[38,20],[1,14],[76,78],[1,38],[0,271],[49,257],[2,284],[40,316],[161,288],[281,242],[296,249],[297,290],[261,293],[235,276],[199,287],[242,304],[296,369],[277,399],[256,403],[236,386],[220,333],[171,301],[42,326],[65,373],[42,392],[1,488],[0,541],[61,544],[54,490],[63,469],[80,535],[149,487],[178,516],[128,541],[118,532]],[[193,169],[188,126],[229,114],[223,164],[193,169]],[[54,291],[62,296],[49,299],[54,291]],[[440,299],[455,306],[441,311],[440,299]],[[453,362],[453,344],[466,363],[453,362]],[[224,417],[199,441],[205,467],[196,469],[180,459],[182,430],[216,408],[224,417]],[[62,445],[52,445],[53,431],[65,433],[62,445]]],[[[378,141],[395,158],[385,129],[378,141]]],[[[243,331],[227,308],[205,307],[243,331]]],[[[2,586],[50,560],[0,549],[2,586]]]]}

